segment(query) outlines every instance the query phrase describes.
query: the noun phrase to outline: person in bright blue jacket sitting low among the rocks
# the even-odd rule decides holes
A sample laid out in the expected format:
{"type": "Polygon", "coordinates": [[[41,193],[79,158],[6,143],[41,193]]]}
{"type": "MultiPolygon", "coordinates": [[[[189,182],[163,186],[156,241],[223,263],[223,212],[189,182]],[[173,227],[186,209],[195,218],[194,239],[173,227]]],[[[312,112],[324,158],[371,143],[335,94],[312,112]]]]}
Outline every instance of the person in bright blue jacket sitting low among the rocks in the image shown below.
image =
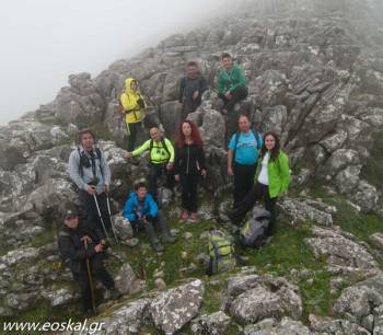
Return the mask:
{"type": "Polygon", "coordinates": [[[156,235],[153,223],[159,226],[163,242],[173,243],[176,240],[167,227],[165,216],[159,210],[151,194],[148,193],[144,182],[136,183],[135,192],[130,193],[125,204],[123,216],[129,220],[134,231],[140,228],[144,229],[156,253],[162,253],[164,247],[156,235]]]}

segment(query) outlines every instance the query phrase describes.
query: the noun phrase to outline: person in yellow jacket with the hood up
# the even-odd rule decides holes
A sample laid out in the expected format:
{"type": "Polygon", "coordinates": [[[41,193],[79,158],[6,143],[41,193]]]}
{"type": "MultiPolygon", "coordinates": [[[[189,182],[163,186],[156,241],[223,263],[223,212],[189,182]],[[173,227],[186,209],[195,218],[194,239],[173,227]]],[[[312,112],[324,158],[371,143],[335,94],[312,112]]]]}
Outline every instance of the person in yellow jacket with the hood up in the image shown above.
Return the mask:
{"type": "Polygon", "coordinates": [[[131,151],[136,146],[138,130],[142,127],[144,109],[147,107],[138,81],[135,78],[130,77],[125,80],[125,92],[121,94],[119,101],[119,111],[125,116],[128,132],[128,151],[131,151]]]}

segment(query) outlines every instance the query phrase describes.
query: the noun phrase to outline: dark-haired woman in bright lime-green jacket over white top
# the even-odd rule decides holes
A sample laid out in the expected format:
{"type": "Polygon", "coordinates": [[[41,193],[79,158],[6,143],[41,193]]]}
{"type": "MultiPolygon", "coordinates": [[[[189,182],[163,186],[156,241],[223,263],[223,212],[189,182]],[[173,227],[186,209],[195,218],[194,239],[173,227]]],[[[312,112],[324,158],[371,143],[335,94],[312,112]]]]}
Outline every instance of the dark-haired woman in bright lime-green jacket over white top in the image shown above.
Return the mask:
{"type": "Polygon", "coordinates": [[[254,204],[264,199],[265,208],[271,213],[267,234],[272,235],[276,231],[276,203],[278,196],[288,190],[290,168],[288,155],[280,150],[278,136],[271,131],[264,135],[264,146],[260,149],[259,162],[260,172],[257,175],[255,185],[229,217],[233,224],[239,226],[254,204]]]}

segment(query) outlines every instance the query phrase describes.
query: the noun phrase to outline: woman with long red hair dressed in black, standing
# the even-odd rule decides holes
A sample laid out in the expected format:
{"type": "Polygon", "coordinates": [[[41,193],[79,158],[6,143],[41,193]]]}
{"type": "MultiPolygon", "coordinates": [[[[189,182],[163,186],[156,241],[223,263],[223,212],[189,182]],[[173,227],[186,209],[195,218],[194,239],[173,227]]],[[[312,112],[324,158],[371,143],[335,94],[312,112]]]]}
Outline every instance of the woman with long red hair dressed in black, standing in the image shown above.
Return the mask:
{"type": "Polygon", "coordinates": [[[206,177],[204,142],[198,127],[190,120],[181,124],[176,142],[174,178],[181,182],[181,219],[198,221],[197,188],[200,176],[206,177]]]}

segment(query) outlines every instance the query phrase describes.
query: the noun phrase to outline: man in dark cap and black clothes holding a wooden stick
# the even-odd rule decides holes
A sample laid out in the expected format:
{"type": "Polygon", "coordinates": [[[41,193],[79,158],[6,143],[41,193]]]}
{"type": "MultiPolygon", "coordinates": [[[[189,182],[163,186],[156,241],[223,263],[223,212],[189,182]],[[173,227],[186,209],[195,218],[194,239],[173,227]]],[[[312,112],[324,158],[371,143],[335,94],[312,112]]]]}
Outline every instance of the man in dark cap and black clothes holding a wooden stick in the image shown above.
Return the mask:
{"type": "MultiPolygon", "coordinates": [[[[96,234],[96,232],[94,232],[96,234]]],[[[105,250],[105,240],[95,243],[94,240],[79,228],[79,216],[73,205],[66,207],[63,227],[58,233],[58,247],[60,255],[68,264],[74,281],[81,290],[81,302],[85,315],[91,315],[92,292],[86,267],[86,259],[90,262],[92,277],[97,278],[109,291],[112,299],[118,299],[121,293],[115,287],[115,282],[102,263],[102,253],[105,250]]]]}

